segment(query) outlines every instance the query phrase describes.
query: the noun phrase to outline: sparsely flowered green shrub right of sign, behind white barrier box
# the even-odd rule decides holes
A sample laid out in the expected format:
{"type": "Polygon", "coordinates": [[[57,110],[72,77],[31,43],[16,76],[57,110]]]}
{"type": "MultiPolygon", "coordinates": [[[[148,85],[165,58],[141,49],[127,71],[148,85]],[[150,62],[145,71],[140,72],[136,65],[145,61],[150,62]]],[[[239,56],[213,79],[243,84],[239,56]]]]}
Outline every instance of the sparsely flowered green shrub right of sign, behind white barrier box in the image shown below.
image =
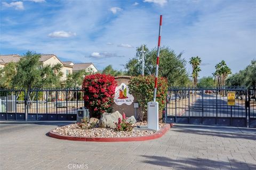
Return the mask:
{"type": "MultiPolygon", "coordinates": [[[[130,92],[137,98],[140,105],[140,120],[146,119],[145,113],[147,113],[147,104],[149,101],[153,101],[154,98],[154,86],[155,77],[153,75],[132,77],[129,82],[130,92]]],[[[157,81],[157,93],[156,101],[158,102],[159,113],[162,117],[162,111],[165,107],[165,100],[167,95],[167,80],[163,77],[158,78],[157,81]]]]}

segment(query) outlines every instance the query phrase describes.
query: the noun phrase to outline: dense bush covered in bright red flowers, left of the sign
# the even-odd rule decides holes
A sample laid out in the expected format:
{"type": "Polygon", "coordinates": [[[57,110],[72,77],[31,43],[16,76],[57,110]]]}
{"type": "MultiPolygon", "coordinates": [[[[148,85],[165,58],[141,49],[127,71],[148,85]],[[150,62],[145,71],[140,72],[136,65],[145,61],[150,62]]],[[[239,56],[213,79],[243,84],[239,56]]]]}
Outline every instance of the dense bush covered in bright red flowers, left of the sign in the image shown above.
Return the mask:
{"type": "Polygon", "coordinates": [[[116,86],[115,78],[111,75],[98,73],[84,78],[82,88],[85,106],[93,112],[93,116],[100,117],[102,113],[111,111],[116,86]]]}

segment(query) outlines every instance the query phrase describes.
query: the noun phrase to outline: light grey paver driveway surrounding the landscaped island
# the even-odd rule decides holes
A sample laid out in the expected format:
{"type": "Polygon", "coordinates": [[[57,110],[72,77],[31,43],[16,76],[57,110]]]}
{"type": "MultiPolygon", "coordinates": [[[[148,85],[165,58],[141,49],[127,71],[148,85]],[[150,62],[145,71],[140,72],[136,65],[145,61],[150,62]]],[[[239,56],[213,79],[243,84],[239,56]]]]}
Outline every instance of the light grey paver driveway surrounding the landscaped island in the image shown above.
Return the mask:
{"type": "Polygon", "coordinates": [[[256,129],[177,124],[160,139],[108,143],[48,137],[58,125],[2,122],[0,169],[256,169],[256,129]]]}

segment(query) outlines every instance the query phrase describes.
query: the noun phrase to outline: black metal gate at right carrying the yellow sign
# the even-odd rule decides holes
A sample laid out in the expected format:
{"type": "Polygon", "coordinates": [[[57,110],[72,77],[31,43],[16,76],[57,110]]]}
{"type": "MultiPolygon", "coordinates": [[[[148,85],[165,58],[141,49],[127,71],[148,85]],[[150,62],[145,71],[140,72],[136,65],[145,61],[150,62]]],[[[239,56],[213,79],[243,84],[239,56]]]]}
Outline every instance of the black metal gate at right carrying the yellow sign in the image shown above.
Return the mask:
{"type": "Polygon", "coordinates": [[[245,88],[171,88],[165,121],[205,125],[256,126],[255,90],[245,88]],[[235,105],[228,106],[228,91],[235,91],[235,105]]]}

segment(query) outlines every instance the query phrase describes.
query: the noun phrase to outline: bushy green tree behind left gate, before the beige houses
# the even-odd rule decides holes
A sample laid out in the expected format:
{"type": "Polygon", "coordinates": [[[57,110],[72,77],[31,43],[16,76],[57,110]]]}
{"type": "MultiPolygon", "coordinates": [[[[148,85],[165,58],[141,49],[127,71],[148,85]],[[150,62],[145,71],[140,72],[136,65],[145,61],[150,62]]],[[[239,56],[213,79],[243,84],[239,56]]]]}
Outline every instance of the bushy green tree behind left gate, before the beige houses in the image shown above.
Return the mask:
{"type": "Polygon", "coordinates": [[[27,52],[17,63],[17,74],[13,77],[12,84],[15,88],[30,90],[33,88],[58,88],[61,87],[63,73],[61,64],[45,65],[39,61],[40,54],[27,52]]]}

